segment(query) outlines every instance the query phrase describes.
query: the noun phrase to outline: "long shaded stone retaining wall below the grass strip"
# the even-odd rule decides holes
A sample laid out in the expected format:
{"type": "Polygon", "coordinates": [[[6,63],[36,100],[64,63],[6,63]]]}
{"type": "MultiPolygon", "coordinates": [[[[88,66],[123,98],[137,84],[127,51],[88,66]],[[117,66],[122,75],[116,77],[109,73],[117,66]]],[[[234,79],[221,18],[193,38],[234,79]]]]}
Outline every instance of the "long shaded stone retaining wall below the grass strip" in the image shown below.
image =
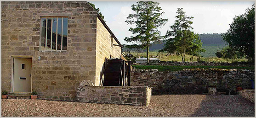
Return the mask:
{"type": "Polygon", "coordinates": [[[209,86],[218,90],[251,88],[254,70],[190,69],[182,71],[158,71],[155,69],[131,72],[131,86],[152,87],[152,94],[202,94],[209,86]]]}

